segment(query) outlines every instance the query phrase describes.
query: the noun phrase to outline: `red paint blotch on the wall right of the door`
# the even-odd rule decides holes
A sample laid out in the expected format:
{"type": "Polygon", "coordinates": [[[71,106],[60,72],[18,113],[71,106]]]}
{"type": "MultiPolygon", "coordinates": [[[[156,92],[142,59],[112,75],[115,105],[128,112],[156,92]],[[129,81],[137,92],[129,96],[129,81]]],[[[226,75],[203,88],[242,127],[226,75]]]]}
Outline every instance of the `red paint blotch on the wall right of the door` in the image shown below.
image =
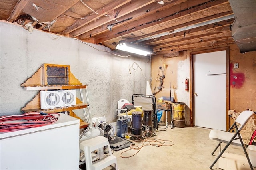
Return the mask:
{"type": "Polygon", "coordinates": [[[233,73],[233,64],[230,63],[230,87],[240,89],[244,84],[244,73],[233,73]]]}

